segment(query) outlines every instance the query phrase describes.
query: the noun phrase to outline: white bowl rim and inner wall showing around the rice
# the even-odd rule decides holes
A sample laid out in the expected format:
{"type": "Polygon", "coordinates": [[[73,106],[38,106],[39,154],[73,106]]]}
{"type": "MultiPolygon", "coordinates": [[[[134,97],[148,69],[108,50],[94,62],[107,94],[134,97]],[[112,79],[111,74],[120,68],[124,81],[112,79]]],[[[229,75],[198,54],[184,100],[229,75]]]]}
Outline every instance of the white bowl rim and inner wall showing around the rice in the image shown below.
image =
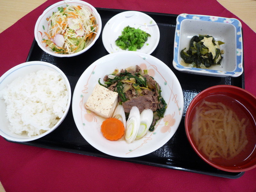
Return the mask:
{"type": "MultiPolygon", "coordinates": [[[[70,107],[70,103],[71,103],[71,88],[70,88],[70,84],[69,84],[67,76],[55,65],[52,65],[52,64],[44,62],[44,61],[29,61],[29,62],[21,63],[15,67],[9,69],[7,72],[5,72],[0,77],[0,88],[4,88],[4,87],[6,87],[7,84],[11,83],[16,78],[16,77],[13,77],[12,74],[17,75],[19,73],[18,71],[20,69],[23,70],[22,75],[25,75],[24,71],[28,71],[28,73],[30,73],[30,72],[36,72],[40,69],[45,69],[45,68],[52,68],[52,70],[59,72],[60,75],[62,76],[62,78],[66,82],[66,86],[67,86],[67,90],[68,90],[68,103],[67,103],[67,108],[63,113],[63,116],[60,118],[60,120],[57,122],[57,124],[55,124],[50,130],[48,130],[40,135],[31,136],[31,137],[19,136],[18,134],[17,134],[17,136],[14,136],[16,134],[11,133],[10,131],[3,131],[3,126],[6,126],[6,124],[1,122],[0,135],[2,137],[4,137],[5,139],[10,140],[10,141],[17,141],[17,142],[36,140],[36,139],[39,139],[39,138],[49,134],[53,130],[55,130],[61,124],[61,122],[65,119],[65,117],[68,113],[69,107],[70,107]],[[35,67],[35,69],[33,67],[35,67]],[[27,68],[27,69],[25,69],[25,68],[27,68]]],[[[4,103],[4,100],[1,99],[1,103],[4,103]]],[[[5,114],[5,113],[6,113],[5,111],[1,111],[1,115],[5,114]]],[[[6,130],[9,130],[9,129],[6,128],[6,130]]]]}

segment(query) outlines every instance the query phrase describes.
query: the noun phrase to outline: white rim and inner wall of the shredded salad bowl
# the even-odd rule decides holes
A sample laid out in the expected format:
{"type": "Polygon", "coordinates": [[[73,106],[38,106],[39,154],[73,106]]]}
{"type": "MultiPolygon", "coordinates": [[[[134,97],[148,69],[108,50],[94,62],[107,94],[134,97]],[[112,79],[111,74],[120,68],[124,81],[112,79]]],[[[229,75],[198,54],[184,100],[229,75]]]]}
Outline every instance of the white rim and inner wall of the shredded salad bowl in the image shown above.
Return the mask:
{"type": "Polygon", "coordinates": [[[86,3],[84,1],[80,1],[80,0],[65,0],[65,1],[60,1],[60,2],[57,2],[55,4],[52,4],[51,6],[47,7],[44,10],[42,15],[40,15],[39,18],[36,21],[36,26],[35,26],[34,34],[35,34],[35,39],[36,39],[36,42],[37,42],[38,46],[44,52],[46,52],[46,53],[48,53],[50,55],[56,56],[56,57],[73,57],[73,56],[79,55],[81,53],[84,53],[85,51],[87,51],[89,48],[92,47],[92,45],[96,42],[96,40],[100,36],[101,28],[102,28],[102,22],[101,22],[100,14],[97,12],[97,10],[91,4],[86,3]],[[52,12],[58,11],[57,8],[60,5],[63,5],[63,4],[80,4],[80,5],[86,5],[86,6],[90,7],[92,9],[92,12],[93,12],[97,22],[98,22],[98,27],[99,27],[98,31],[97,31],[97,34],[94,37],[94,40],[87,47],[85,47],[83,50],[81,50],[79,52],[76,52],[76,53],[72,53],[72,54],[58,54],[58,53],[52,52],[52,51],[48,50],[45,47],[45,45],[42,43],[42,35],[41,35],[41,33],[44,33],[43,31],[47,32],[47,29],[45,28],[46,26],[43,26],[41,24],[41,22],[44,22],[44,19],[45,19],[45,22],[46,22],[46,18],[50,17],[52,12]]]}

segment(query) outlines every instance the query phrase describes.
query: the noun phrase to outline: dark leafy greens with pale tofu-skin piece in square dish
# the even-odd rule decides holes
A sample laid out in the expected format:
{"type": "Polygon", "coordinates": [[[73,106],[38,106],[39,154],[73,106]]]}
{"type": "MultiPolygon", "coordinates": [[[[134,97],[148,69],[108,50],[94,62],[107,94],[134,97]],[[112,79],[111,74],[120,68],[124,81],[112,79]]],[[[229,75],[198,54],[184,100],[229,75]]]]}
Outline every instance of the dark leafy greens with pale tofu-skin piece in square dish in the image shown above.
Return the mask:
{"type": "Polygon", "coordinates": [[[208,68],[212,65],[220,65],[223,59],[220,51],[222,41],[215,41],[212,36],[199,35],[193,36],[190,40],[189,48],[180,51],[180,57],[185,63],[191,64],[196,68],[208,68]]]}

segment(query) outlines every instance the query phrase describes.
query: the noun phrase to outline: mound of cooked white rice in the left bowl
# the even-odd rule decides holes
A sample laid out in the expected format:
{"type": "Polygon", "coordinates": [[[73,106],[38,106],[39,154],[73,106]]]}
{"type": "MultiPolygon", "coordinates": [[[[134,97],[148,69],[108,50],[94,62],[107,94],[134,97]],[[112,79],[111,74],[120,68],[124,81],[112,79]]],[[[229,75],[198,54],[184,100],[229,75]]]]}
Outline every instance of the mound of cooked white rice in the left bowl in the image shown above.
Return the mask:
{"type": "Polygon", "coordinates": [[[65,80],[57,71],[39,70],[18,77],[0,91],[11,132],[29,137],[51,129],[68,103],[65,80]]]}

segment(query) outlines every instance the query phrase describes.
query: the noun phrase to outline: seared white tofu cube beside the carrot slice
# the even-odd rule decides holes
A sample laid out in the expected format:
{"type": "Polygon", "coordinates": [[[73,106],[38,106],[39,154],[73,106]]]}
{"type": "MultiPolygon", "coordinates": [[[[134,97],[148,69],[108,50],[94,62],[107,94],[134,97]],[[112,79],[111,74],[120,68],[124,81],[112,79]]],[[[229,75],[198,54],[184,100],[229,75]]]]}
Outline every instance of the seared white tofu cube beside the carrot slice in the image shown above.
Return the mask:
{"type": "Polygon", "coordinates": [[[106,87],[96,84],[92,94],[85,103],[85,108],[104,118],[112,117],[118,103],[117,97],[117,92],[110,91],[106,87]]]}

